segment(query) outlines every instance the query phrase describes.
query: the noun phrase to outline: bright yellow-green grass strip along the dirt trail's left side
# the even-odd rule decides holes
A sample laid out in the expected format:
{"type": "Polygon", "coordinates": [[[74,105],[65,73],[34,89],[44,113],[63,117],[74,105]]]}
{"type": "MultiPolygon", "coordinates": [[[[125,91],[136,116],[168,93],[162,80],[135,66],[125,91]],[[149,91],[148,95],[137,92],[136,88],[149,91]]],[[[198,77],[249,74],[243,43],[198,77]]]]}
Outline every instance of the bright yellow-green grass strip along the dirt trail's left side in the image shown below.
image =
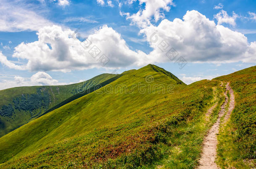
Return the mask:
{"type": "MultiPolygon", "coordinates": [[[[198,112],[189,123],[181,123],[172,129],[173,134],[166,137],[168,144],[162,144],[165,158],[154,168],[184,169],[196,168],[202,153],[202,142],[209,128],[218,118],[220,106],[224,102],[223,88],[218,87],[215,97],[217,106],[214,108],[209,120],[205,114],[198,112]]],[[[214,104],[212,102],[210,105],[214,104]]],[[[172,126],[170,126],[172,127],[172,126]]]]}

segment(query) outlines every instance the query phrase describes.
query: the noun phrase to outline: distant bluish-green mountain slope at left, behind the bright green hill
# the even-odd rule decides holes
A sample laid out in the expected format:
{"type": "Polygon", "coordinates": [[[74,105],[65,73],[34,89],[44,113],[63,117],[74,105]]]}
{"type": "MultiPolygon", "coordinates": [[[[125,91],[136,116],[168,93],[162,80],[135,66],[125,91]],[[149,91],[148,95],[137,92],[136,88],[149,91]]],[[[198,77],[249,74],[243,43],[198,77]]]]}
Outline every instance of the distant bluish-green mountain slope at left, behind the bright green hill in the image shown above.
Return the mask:
{"type": "Polygon", "coordinates": [[[0,137],[26,124],[65,99],[117,75],[102,74],[65,86],[16,87],[0,91],[0,137]]]}

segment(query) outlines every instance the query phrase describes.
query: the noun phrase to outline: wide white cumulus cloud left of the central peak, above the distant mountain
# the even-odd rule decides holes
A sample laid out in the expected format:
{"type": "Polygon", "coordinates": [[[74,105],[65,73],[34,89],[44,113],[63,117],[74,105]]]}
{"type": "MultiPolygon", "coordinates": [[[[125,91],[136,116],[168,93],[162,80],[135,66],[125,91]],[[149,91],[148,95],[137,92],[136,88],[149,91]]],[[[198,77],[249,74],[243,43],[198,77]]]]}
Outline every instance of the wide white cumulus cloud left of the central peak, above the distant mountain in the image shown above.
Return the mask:
{"type": "Polygon", "coordinates": [[[13,57],[27,61],[15,65],[0,55],[0,62],[10,68],[29,71],[71,71],[97,67],[117,68],[145,63],[146,54],[128,48],[121,35],[103,26],[81,42],[76,33],[59,26],[44,27],[37,33],[38,41],[21,43],[13,57]]]}

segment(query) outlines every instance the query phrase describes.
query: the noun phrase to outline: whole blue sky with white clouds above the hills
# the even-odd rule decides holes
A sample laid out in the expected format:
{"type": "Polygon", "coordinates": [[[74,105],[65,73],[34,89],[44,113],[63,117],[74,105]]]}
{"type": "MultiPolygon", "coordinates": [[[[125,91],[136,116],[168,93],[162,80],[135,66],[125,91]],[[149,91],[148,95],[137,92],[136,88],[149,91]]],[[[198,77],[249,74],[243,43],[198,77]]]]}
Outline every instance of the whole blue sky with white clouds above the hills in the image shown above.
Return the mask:
{"type": "Polygon", "coordinates": [[[255,66],[255,0],[0,0],[0,90],[148,64],[186,84],[255,66]]]}

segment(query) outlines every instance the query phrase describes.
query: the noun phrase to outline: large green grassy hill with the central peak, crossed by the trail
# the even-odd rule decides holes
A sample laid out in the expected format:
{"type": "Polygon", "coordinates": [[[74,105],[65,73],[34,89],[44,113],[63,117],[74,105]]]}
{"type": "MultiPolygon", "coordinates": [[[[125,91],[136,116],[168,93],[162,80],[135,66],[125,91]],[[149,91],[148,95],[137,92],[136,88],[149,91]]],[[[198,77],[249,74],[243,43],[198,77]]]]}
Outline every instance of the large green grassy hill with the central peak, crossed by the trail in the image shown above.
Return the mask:
{"type": "MultiPolygon", "coordinates": [[[[236,92],[236,131],[230,133],[239,139],[233,141],[243,143],[238,148],[252,159],[255,69],[190,85],[154,65],[128,71],[1,137],[0,168],[195,168],[224,102],[220,81],[231,81],[236,92]],[[208,120],[207,109],[215,103],[208,120]],[[253,115],[243,121],[247,111],[253,115]]],[[[222,158],[230,148],[223,147],[222,158]]]]}

